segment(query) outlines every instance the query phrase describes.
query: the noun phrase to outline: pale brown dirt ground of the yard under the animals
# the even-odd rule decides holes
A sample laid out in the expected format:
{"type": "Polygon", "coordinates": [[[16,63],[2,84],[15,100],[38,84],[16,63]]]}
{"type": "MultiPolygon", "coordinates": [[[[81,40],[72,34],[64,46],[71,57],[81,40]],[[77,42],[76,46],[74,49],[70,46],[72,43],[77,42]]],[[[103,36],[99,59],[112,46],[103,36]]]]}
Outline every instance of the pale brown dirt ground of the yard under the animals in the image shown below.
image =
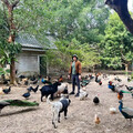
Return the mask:
{"type": "MultiPolygon", "coordinates": [[[[51,123],[51,105],[40,101],[40,91],[37,93],[31,92],[29,101],[39,102],[39,106],[6,106],[0,114],[0,133],[132,133],[133,122],[130,126],[129,121],[119,111],[117,94],[108,88],[109,80],[113,78],[114,75],[110,75],[109,79],[103,80],[101,76],[102,85],[92,80],[86,86],[89,96],[84,101],[70,95],[71,104],[69,106],[68,120],[64,120],[63,114],[61,114],[61,123],[58,124],[58,129],[53,129],[51,123]],[[96,94],[99,94],[100,99],[99,105],[93,103],[93,98],[96,94]],[[110,113],[111,106],[116,109],[115,114],[110,113]],[[99,125],[94,123],[95,114],[101,120],[99,125]]],[[[125,75],[119,75],[119,78],[122,79],[122,83],[133,85],[133,82],[126,81],[125,75]]],[[[27,91],[27,88],[12,86],[10,94],[0,95],[0,101],[8,99],[24,100],[21,95],[27,91]]],[[[125,86],[122,90],[126,90],[125,86]]],[[[70,91],[71,84],[69,84],[70,91]]],[[[124,106],[133,108],[131,94],[125,93],[123,98],[124,106]]]]}

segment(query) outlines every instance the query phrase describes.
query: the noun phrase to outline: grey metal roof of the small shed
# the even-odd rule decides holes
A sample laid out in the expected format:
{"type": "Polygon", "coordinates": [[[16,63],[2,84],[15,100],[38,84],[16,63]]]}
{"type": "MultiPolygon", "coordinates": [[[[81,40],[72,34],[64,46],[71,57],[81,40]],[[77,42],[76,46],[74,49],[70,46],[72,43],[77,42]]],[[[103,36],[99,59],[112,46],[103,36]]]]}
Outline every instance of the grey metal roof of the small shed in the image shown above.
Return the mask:
{"type": "Polygon", "coordinates": [[[35,48],[35,49],[57,49],[54,41],[55,39],[53,39],[51,35],[47,35],[43,44],[41,44],[34,35],[30,35],[28,33],[22,33],[19,34],[16,38],[16,41],[18,43],[20,43],[22,45],[22,48],[35,48]]]}

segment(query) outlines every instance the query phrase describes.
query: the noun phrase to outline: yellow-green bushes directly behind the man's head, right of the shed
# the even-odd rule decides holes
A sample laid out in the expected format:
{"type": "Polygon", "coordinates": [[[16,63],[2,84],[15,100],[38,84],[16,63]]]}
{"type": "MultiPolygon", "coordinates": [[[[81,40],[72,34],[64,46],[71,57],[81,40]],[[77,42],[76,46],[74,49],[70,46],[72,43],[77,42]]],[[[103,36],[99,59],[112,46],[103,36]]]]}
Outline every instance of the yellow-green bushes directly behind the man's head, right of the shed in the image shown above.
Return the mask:
{"type": "Polygon", "coordinates": [[[72,39],[71,42],[58,41],[57,47],[58,50],[47,52],[50,65],[68,70],[73,54],[78,54],[83,68],[101,64],[98,51],[90,48],[88,43],[81,44],[76,39],[72,39]]]}

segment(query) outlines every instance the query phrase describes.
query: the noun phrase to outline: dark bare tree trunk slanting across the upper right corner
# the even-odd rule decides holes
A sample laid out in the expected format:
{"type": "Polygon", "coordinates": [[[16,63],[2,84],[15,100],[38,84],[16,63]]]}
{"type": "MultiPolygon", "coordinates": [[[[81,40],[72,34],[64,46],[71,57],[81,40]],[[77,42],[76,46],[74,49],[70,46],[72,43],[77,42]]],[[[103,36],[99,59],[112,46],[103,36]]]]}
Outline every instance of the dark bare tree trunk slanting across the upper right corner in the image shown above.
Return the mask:
{"type": "Polygon", "coordinates": [[[127,10],[127,0],[105,0],[105,4],[116,11],[127,30],[133,34],[133,19],[127,10]]]}

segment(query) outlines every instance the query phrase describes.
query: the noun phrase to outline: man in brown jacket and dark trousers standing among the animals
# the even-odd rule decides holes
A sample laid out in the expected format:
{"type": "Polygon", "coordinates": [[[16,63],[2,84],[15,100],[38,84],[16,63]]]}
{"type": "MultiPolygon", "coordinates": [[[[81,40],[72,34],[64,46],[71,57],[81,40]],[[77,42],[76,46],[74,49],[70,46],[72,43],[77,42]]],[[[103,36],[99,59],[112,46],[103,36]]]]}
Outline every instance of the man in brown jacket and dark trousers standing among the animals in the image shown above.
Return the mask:
{"type": "Polygon", "coordinates": [[[78,85],[78,93],[75,96],[79,96],[80,93],[80,80],[81,80],[81,62],[78,60],[78,55],[72,55],[72,62],[69,70],[68,79],[72,78],[72,92],[70,94],[74,94],[75,83],[78,85]]]}

